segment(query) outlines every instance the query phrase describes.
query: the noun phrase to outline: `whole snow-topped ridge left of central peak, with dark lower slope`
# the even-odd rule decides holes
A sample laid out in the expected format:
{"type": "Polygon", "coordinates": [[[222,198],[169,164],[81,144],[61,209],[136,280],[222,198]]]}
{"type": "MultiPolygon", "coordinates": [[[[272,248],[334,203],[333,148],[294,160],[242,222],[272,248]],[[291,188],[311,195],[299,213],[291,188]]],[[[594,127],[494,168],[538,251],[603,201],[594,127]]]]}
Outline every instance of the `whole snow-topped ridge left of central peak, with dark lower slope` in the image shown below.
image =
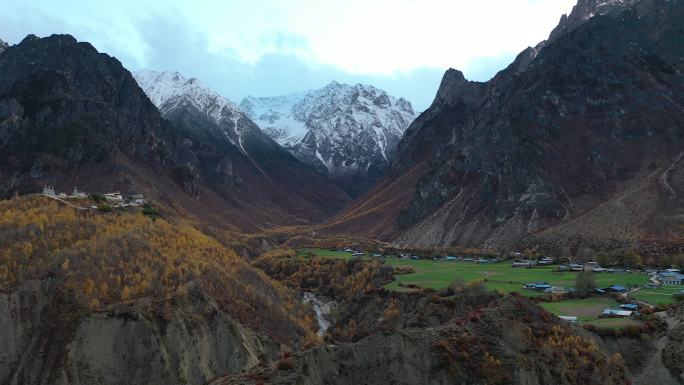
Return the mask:
{"type": "Polygon", "coordinates": [[[134,76],[175,128],[179,146],[196,158],[195,164],[171,172],[174,181],[185,184],[196,175],[212,193],[230,200],[230,211],[223,214],[236,225],[320,221],[349,201],[339,186],[297,160],[234,103],[197,79],[147,70],[134,76]]]}

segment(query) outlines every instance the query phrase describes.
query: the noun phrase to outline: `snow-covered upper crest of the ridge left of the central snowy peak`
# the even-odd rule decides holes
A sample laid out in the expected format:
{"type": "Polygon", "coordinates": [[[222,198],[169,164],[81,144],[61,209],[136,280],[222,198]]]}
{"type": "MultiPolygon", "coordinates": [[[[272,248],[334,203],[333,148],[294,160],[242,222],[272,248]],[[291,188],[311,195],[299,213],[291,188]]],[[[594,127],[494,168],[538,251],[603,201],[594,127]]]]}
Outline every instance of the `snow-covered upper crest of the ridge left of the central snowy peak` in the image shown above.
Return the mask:
{"type": "MultiPolygon", "coordinates": [[[[206,115],[222,134],[245,154],[243,139],[259,130],[235,103],[204,86],[198,79],[186,79],[176,71],[142,70],[133,76],[162,116],[170,117],[192,108],[206,115]]],[[[171,119],[173,120],[173,119],[171,119]]]]}

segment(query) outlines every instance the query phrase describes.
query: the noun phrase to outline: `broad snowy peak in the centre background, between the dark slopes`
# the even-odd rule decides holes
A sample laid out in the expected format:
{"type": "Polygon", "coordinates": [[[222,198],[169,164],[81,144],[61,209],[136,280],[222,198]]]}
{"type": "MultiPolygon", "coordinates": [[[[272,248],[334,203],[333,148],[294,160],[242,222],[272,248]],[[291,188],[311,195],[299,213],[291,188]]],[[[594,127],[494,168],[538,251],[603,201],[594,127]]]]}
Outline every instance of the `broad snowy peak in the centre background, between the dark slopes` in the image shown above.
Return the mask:
{"type": "Polygon", "coordinates": [[[416,117],[406,99],[334,81],[308,92],[250,96],[240,108],[297,158],[354,195],[382,175],[416,117]]]}

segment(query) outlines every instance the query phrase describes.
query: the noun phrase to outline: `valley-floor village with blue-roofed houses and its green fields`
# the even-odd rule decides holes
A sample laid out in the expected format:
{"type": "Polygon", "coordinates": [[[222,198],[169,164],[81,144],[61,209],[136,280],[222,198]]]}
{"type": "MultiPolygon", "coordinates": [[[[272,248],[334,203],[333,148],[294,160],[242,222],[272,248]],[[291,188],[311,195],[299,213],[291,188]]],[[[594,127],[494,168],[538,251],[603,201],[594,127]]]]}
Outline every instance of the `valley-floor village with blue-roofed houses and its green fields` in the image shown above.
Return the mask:
{"type": "Polygon", "coordinates": [[[489,290],[519,293],[540,301],[540,306],[570,323],[597,327],[640,325],[642,312],[674,303],[684,297],[684,274],[680,269],[602,267],[598,262],[568,263],[564,258],[421,253],[364,252],[356,248],[302,249],[301,255],[332,258],[381,258],[395,268],[395,280],[386,289],[397,291],[445,290],[454,279],[480,281],[489,290]],[[580,295],[576,278],[591,273],[594,284],[580,295]]]}

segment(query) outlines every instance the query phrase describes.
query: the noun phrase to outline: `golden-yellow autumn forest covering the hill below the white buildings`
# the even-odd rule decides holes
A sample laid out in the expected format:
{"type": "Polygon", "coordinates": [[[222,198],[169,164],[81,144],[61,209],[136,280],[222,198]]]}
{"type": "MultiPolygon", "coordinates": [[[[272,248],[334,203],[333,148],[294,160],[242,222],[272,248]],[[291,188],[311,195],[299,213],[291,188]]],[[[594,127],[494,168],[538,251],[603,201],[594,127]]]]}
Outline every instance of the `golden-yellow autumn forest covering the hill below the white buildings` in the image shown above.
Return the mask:
{"type": "Polygon", "coordinates": [[[315,330],[293,291],[188,223],[84,212],[42,197],[0,202],[0,290],[46,277],[91,311],[199,282],[225,312],[276,340],[315,330]]]}

